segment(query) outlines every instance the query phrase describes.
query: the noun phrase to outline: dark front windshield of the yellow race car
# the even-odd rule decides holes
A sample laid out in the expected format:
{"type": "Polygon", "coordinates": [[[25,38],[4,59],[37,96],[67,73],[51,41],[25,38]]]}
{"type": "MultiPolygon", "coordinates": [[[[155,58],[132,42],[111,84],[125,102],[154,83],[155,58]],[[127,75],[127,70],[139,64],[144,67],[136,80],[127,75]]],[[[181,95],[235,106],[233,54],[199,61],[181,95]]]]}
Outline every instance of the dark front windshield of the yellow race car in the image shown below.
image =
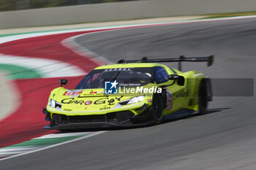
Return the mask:
{"type": "Polygon", "coordinates": [[[76,89],[104,88],[105,82],[116,80],[118,86],[141,86],[153,82],[153,69],[148,68],[118,68],[95,69],[83,78],[76,89]]]}

